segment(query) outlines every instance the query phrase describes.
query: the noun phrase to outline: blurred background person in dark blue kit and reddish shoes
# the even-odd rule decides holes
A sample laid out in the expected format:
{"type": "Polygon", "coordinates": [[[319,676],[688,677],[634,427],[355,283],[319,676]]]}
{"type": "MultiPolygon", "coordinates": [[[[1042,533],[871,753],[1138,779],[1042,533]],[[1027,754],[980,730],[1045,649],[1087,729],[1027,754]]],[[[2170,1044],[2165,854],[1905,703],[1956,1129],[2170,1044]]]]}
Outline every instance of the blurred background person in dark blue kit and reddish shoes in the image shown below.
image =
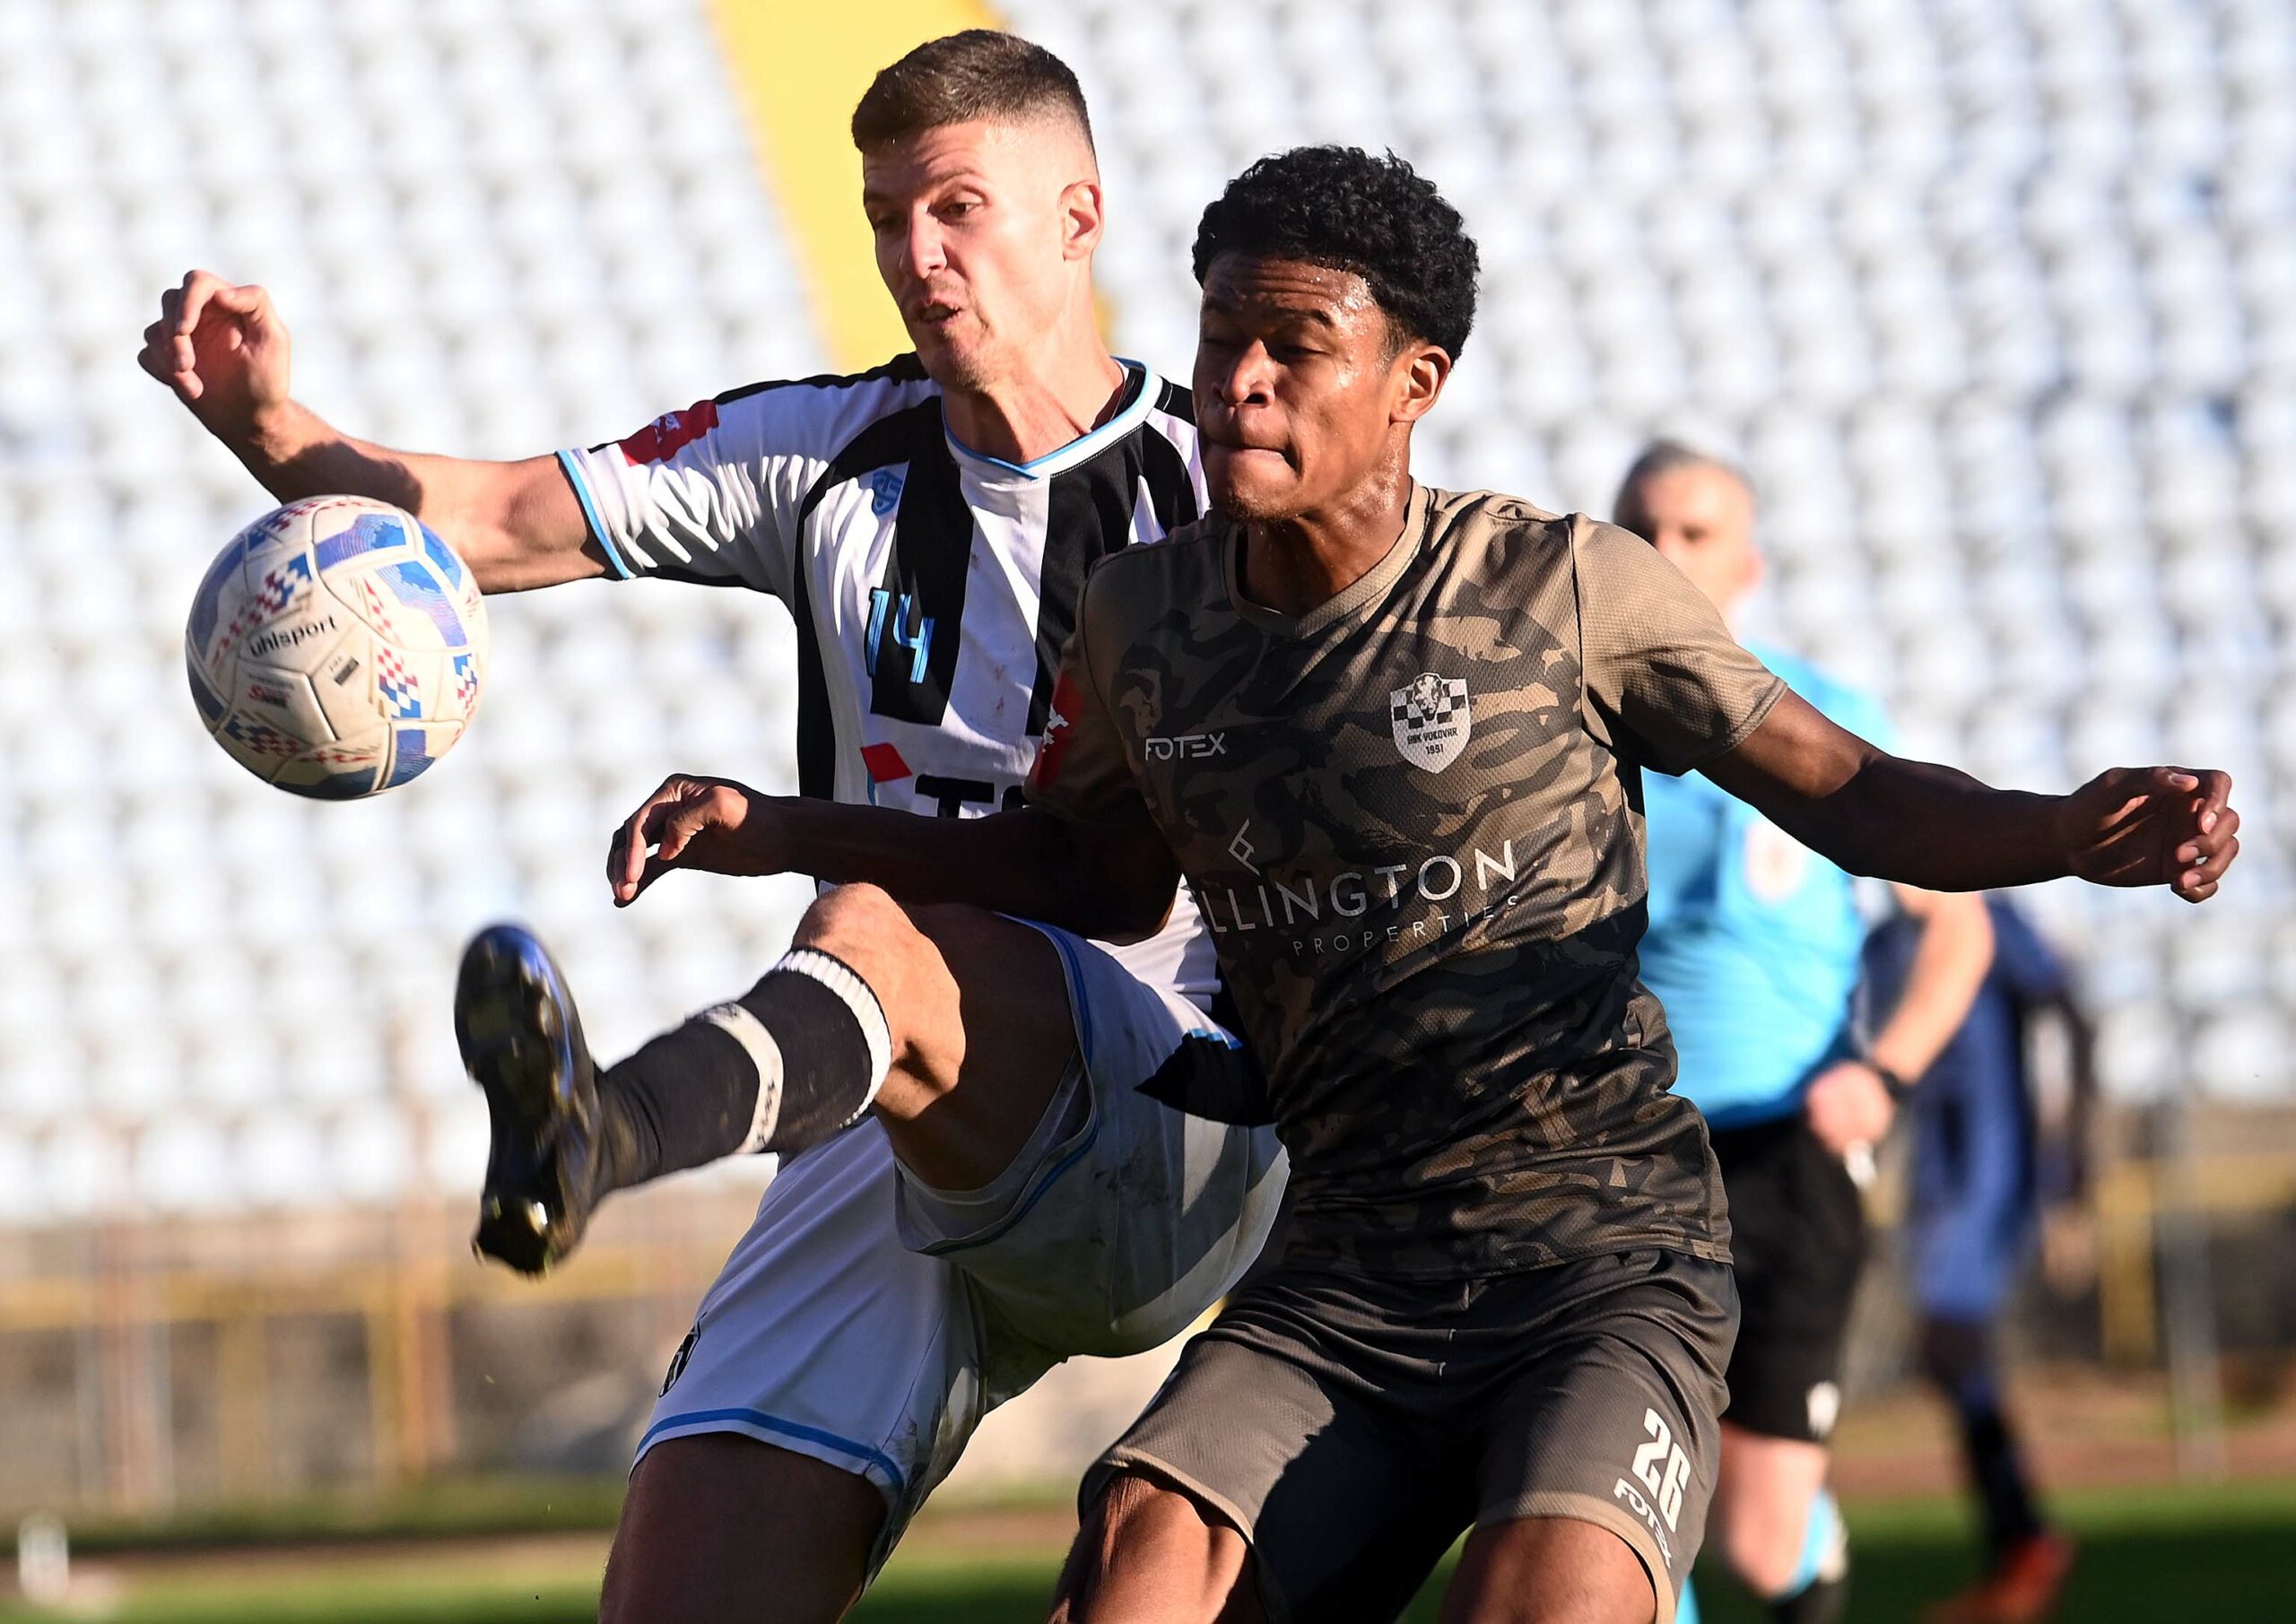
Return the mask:
{"type": "MultiPolygon", "coordinates": [[[[2032,1252],[2043,1208],[2087,1185],[2094,1041],[2064,965],[2004,898],[1986,900],[1993,969],[1968,1020],[1913,1093],[1908,1256],[1922,1312],[1922,1371],[1954,1406],[1984,1518],[1986,1571],[1929,1613],[1931,1624],[2025,1624],[2050,1613],[2073,1544],[2034,1505],[2032,1475],[2002,1413],[1993,1328],[2032,1252]],[[2027,1068],[2034,1027],[2064,1029],[2069,1086],[2043,1109],[2027,1068]]],[[[1871,1008],[1890,1008],[1913,969],[1906,921],[1864,951],[1871,1008]]]]}

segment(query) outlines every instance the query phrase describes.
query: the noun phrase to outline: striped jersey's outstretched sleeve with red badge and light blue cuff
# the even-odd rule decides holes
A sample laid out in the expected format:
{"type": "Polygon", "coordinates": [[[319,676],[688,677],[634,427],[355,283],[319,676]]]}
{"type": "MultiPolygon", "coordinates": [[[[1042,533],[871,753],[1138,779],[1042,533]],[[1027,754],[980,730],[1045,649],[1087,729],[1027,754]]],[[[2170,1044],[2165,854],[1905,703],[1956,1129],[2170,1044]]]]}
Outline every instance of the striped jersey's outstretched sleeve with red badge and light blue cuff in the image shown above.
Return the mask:
{"type": "Polygon", "coordinates": [[[751,586],[790,602],[806,496],[875,418],[925,393],[898,370],[758,384],[563,450],[558,466],[620,579],[751,586]]]}

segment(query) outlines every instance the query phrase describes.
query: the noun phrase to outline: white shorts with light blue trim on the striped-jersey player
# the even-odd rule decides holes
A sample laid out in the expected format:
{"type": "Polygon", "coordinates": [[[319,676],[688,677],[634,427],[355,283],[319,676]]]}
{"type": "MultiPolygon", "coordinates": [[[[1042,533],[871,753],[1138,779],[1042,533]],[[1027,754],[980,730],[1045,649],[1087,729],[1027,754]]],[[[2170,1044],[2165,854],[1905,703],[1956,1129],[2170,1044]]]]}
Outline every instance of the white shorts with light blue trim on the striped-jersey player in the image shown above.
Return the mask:
{"type": "Polygon", "coordinates": [[[1042,930],[1081,1073],[1008,1171],[976,1192],[923,1188],[875,1121],[788,1162],[638,1443],[643,1456],[732,1431],[866,1477],[889,1507],[872,1571],[983,1415],[1070,1355],[1182,1332],[1258,1256],[1283,1194],[1270,1128],[1139,1093],[1166,1068],[1235,1066],[1235,1038],[1091,942],[1042,930]]]}

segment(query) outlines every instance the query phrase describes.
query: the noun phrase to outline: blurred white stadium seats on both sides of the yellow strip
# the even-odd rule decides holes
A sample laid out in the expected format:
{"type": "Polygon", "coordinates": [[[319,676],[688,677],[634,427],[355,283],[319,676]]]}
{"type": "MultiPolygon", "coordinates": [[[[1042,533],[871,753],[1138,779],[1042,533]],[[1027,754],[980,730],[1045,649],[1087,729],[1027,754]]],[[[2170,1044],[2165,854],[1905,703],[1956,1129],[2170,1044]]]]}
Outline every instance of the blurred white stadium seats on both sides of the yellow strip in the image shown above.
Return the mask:
{"type": "MultiPolygon", "coordinates": [[[[2287,1098],[2296,1006],[2296,11],[2285,0],[1010,0],[1093,99],[1120,349],[1185,370],[1196,211],[1391,145],[1483,324],[1424,473],[1600,512],[1653,432],[1763,489],[1768,627],[2009,783],[2229,765],[2236,884],[2043,894],[2108,1082],[2287,1098]],[[2174,933],[2170,933],[2174,926],[2174,933]]],[[[859,230],[859,225],[856,225],[859,230]]],[[[528,455],[827,365],[700,0],[0,5],[0,1220],[475,1188],[459,939],[565,944],[615,1050],[801,887],[631,914],[680,765],[785,783],[751,595],[498,602],[471,740],[360,806],[197,735],[181,613],[264,503],[131,361],[191,264],[273,287],[301,393],[528,455]]]]}

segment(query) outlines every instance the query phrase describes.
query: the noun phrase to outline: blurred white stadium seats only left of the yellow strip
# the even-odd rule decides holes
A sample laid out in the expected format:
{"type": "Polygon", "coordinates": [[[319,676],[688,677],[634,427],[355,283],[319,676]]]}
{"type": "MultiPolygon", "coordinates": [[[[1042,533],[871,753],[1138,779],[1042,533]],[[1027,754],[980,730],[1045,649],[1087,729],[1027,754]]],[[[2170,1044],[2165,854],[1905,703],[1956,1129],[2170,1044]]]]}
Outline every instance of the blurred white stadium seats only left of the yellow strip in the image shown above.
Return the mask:
{"type": "Polygon", "coordinates": [[[563,939],[611,1050],[794,917],[602,880],[677,763],[783,781],[746,593],[498,602],[484,744],[420,797],[301,804],[200,740],[184,606],[266,501],[131,361],[193,264],[388,443],[533,455],[827,365],[698,0],[0,7],[0,1217],[473,1190],[475,923],[563,939]]]}

